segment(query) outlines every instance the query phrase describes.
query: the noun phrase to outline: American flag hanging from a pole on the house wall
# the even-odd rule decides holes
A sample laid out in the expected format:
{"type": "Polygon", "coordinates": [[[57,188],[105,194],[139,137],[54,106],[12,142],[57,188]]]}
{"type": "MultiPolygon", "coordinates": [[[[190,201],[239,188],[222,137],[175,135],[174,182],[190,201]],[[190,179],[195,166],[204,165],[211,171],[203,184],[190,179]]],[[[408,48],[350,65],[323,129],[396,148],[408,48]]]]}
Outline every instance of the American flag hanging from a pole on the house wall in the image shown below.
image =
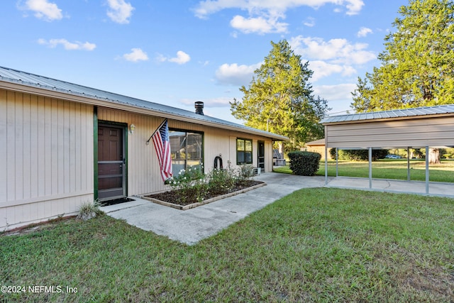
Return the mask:
{"type": "Polygon", "coordinates": [[[153,145],[159,160],[162,181],[172,177],[172,156],[170,155],[169,126],[167,119],[155,131],[153,136],[153,145]]]}

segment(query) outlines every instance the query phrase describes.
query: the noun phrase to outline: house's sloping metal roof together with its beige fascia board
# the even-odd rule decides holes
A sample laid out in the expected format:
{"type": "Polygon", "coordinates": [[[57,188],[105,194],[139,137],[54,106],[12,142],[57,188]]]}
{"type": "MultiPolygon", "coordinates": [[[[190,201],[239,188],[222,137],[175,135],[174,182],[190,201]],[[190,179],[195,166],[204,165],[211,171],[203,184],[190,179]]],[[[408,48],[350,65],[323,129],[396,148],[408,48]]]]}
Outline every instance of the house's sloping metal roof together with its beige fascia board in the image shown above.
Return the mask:
{"type": "Polygon", "coordinates": [[[57,79],[33,75],[31,73],[13,70],[8,67],[0,67],[0,88],[28,94],[38,94],[44,97],[77,101],[95,106],[106,106],[112,109],[133,111],[135,113],[151,116],[161,116],[162,118],[224,128],[231,131],[250,133],[257,136],[272,138],[272,140],[275,141],[289,140],[287,136],[261,131],[257,128],[251,128],[211,116],[195,114],[195,112],[192,111],[177,109],[172,106],[135,99],[133,97],[126,97],[121,94],[84,87],[79,84],[72,84],[57,79]]]}

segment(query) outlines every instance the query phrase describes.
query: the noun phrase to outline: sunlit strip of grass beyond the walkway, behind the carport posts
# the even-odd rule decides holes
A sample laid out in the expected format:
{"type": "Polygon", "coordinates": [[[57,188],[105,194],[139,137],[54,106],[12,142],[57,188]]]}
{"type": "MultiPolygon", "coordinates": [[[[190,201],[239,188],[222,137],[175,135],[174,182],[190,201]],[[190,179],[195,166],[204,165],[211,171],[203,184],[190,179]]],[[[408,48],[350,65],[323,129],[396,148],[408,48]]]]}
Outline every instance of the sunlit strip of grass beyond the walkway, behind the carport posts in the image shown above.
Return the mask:
{"type": "MultiPolygon", "coordinates": [[[[275,167],[275,172],[291,174],[289,165],[275,167]]],[[[407,163],[404,160],[379,160],[372,162],[372,177],[377,179],[407,180],[407,163]]],[[[325,175],[325,162],[320,162],[316,175],[325,175]]],[[[369,177],[369,162],[339,161],[338,175],[343,177],[369,177]]],[[[328,176],[336,177],[336,161],[328,161],[328,176]]],[[[426,162],[410,161],[410,177],[412,181],[426,180],[426,162]]],[[[429,177],[432,182],[454,182],[454,161],[443,160],[441,164],[430,165],[429,177]]]]}

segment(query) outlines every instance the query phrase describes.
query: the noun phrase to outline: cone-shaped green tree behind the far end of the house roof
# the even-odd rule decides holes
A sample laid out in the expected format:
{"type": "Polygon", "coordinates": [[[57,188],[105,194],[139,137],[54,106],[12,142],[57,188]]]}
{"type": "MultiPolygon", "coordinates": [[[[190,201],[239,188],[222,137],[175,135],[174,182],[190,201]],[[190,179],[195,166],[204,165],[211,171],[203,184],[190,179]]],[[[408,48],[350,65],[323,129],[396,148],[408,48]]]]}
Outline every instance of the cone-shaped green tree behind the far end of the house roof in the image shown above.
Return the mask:
{"type": "Polygon", "coordinates": [[[234,99],[231,111],[246,126],[288,136],[287,150],[323,138],[319,121],[328,110],[325,99],[314,99],[309,78],[313,72],[301,63],[287,40],[273,43],[265,62],[254,72],[248,88],[240,87],[242,101],[234,99]]]}

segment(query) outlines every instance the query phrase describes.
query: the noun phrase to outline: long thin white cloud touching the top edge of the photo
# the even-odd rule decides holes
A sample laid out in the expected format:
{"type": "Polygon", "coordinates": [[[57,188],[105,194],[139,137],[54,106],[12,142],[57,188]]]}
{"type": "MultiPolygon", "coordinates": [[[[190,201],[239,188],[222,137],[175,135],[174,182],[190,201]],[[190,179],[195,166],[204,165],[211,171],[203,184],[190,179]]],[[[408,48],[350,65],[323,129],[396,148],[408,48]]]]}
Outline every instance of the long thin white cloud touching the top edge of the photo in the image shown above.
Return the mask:
{"type": "Polygon", "coordinates": [[[249,13],[257,13],[258,11],[284,13],[287,9],[298,6],[309,6],[318,9],[325,4],[345,6],[347,15],[359,13],[362,6],[364,6],[362,0],[205,0],[199,1],[194,13],[199,18],[206,18],[211,13],[216,13],[223,9],[243,9],[249,13]]]}

